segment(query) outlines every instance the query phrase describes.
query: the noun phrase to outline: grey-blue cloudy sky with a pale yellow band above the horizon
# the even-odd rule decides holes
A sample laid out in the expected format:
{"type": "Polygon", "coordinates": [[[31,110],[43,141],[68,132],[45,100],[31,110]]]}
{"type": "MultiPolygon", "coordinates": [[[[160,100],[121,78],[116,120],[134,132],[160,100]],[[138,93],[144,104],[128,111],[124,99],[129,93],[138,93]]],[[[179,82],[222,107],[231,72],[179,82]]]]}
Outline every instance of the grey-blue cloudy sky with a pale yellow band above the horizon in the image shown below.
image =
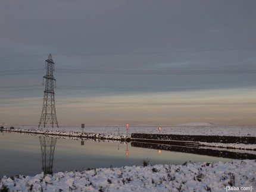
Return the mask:
{"type": "Polygon", "coordinates": [[[1,1],[0,124],[256,125],[256,1],[1,1]]]}

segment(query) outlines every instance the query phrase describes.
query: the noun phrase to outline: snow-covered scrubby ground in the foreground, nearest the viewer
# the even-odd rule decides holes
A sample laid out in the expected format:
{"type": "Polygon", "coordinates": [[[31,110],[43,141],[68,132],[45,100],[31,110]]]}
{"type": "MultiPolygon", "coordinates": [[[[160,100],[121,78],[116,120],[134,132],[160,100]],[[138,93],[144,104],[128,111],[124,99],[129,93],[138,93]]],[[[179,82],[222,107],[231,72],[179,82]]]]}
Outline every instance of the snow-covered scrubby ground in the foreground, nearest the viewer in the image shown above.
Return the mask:
{"type": "Polygon", "coordinates": [[[254,191],[256,160],[124,166],[90,171],[3,177],[10,191],[254,191]]]}

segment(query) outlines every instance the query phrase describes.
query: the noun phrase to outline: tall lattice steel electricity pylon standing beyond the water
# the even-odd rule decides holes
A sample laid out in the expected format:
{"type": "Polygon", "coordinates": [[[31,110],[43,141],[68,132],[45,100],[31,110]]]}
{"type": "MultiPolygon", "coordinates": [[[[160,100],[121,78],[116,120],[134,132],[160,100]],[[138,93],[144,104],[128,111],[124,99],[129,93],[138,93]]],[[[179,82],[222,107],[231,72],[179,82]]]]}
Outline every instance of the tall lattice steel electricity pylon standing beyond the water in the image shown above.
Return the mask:
{"type": "MultiPolygon", "coordinates": [[[[55,111],[54,100],[54,61],[52,61],[52,55],[49,54],[48,59],[45,62],[46,75],[45,78],[45,91],[43,96],[43,109],[38,128],[42,124],[43,127],[50,125],[52,128],[54,124],[58,127],[58,121],[55,111]]],[[[44,81],[43,81],[44,82],[44,81]]]]}

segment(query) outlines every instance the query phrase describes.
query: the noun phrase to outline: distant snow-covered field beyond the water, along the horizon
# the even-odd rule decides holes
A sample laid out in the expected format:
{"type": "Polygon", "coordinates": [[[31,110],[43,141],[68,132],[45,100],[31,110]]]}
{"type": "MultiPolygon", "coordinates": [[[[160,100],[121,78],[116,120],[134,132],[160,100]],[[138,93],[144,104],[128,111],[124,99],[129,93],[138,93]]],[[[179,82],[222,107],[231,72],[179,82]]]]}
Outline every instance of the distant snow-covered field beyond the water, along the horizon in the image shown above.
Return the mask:
{"type": "MultiPolygon", "coordinates": [[[[8,125],[15,128],[38,130],[36,125],[8,125]]],[[[129,125],[127,135],[126,125],[80,125],[60,126],[60,128],[43,128],[43,130],[66,131],[77,133],[98,133],[104,135],[120,136],[126,135],[130,137],[130,133],[148,133],[158,134],[158,126],[161,126],[161,134],[182,134],[182,135],[202,135],[202,136],[238,136],[238,137],[256,137],[256,127],[241,126],[223,126],[207,122],[193,122],[180,125],[129,125]]],[[[40,127],[41,129],[41,127],[40,127]]],[[[39,130],[40,130],[39,129],[39,130]]]]}

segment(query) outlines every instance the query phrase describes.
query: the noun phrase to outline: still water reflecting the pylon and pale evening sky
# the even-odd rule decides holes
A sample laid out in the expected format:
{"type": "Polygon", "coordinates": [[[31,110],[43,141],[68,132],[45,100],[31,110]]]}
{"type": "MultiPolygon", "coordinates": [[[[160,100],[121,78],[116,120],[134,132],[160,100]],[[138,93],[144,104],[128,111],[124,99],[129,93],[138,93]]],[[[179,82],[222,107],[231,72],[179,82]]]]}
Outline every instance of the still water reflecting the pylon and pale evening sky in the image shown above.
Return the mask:
{"type": "Polygon", "coordinates": [[[184,162],[226,162],[231,159],[167,150],[133,147],[131,143],[80,141],[0,133],[0,178],[4,175],[36,175],[47,169],[83,171],[88,168],[184,162]]]}

